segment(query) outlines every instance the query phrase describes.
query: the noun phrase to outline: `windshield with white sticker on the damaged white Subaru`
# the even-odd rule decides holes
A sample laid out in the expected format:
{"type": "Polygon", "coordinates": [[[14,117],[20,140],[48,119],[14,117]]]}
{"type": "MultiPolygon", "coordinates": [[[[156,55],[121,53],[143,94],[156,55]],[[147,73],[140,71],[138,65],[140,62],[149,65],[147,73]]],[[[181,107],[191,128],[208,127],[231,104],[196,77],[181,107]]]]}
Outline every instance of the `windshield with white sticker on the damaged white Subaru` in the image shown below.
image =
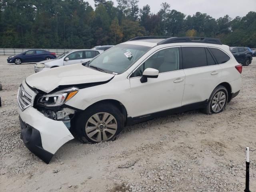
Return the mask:
{"type": "Polygon", "coordinates": [[[91,60],[88,67],[121,74],[150,49],[147,46],[119,44],[91,60]]]}

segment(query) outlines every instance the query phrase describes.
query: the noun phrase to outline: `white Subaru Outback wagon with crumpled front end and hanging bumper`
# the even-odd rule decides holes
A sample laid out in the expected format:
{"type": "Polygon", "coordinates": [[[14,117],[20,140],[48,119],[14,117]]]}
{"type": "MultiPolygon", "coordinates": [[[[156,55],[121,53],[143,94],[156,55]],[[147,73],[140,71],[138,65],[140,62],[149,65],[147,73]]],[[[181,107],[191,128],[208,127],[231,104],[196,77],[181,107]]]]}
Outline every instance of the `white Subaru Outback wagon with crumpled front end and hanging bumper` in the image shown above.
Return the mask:
{"type": "Polygon", "coordinates": [[[21,138],[49,163],[73,135],[96,143],[158,116],[219,113],[238,95],[241,72],[218,39],[137,37],[90,62],[26,78],[18,91],[21,138]]]}

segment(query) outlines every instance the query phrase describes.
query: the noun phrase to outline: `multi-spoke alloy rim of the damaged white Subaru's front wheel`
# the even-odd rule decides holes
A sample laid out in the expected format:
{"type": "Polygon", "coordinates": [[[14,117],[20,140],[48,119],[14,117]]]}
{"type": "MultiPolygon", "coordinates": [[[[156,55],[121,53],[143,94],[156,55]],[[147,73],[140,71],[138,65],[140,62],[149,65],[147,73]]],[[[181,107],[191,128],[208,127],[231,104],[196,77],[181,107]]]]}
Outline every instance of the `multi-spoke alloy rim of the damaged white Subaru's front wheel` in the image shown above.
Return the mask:
{"type": "Polygon", "coordinates": [[[95,142],[110,140],[116,131],[116,118],[106,112],[94,114],[87,120],[85,126],[86,135],[95,142]]]}

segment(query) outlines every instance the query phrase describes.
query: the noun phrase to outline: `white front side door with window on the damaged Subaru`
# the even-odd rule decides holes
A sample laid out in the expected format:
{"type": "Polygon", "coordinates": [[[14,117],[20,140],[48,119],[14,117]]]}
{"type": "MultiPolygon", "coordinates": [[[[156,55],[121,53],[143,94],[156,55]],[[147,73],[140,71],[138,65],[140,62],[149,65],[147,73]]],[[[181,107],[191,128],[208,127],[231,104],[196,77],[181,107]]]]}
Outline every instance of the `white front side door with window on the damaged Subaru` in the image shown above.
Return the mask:
{"type": "Polygon", "coordinates": [[[185,74],[179,47],[165,48],[150,56],[130,77],[132,117],[143,118],[152,113],[181,106],[185,74]],[[146,68],[159,70],[158,78],[140,78],[146,68]]]}

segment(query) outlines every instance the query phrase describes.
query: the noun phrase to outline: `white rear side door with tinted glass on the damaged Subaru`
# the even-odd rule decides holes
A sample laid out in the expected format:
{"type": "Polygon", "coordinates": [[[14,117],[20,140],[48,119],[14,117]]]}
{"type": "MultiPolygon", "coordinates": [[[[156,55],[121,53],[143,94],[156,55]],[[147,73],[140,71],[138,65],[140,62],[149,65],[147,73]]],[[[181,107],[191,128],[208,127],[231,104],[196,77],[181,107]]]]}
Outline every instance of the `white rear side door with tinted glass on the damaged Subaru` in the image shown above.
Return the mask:
{"type": "Polygon", "coordinates": [[[186,76],[182,106],[204,102],[220,82],[222,69],[207,47],[182,46],[182,58],[186,76]]]}

